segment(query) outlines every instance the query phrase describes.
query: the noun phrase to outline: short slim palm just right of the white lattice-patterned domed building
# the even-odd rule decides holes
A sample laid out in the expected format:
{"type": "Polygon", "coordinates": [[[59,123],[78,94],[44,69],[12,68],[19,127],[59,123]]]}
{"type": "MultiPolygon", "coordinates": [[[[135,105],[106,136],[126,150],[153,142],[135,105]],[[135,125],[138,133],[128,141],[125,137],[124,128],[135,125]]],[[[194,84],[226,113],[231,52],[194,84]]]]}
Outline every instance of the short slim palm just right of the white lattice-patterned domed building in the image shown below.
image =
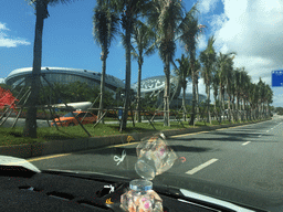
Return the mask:
{"type": "Polygon", "coordinates": [[[184,110],[184,120],[186,121],[186,88],[187,88],[187,78],[190,76],[189,70],[189,59],[185,57],[185,54],[181,54],[181,59],[176,59],[179,63],[179,68],[175,68],[175,74],[180,78],[182,86],[182,110],[184,110]]]}

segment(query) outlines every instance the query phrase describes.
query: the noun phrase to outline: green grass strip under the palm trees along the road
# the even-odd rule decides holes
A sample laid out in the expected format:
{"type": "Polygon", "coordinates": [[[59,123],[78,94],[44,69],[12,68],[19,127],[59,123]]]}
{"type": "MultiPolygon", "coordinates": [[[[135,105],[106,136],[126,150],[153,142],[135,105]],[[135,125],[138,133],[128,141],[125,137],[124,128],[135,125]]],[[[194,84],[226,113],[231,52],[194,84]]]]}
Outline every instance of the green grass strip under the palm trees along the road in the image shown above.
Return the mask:
{"type": "MultiPolygon", "coordinates": [[[[186,123],[182,121],[182,124],[185,128],[193,127],[188,125],[188,120],[186,123]]],[[[230,123],[228,120],[221,123],[221,125],[226,125],[226,124],[230,124],[230,123]]],[[[213,125],[219,125],[219,123],[217,120],[212,120],[212,124],[210,125],[209,123],[196,121],[195,127],[213,126],[213,125]]],[[[170,127],[165,127],[163,121],[158,121],[158,123],[156,121],[154,123],[154,126],[157,130],[184,128],[178,121],[170,121],[170,127]]],[[[127,124],[127,129],[123,132],[119,132],[118,124],[111,124],[111,125],[98,124],[95,128],[93,128],[93,124],[90,124],[90,125],[84,125],[84,127],[93,137],[114,136],[114,135],[130,134],[130,132],[155,131],[155,129],[148,123],[136,123],[135,127],[133,126],[133,124],[127,124]]],[[[38,128],[38,138],[22,137],[22,131],[23,131],[22,127],[17,127],[14,129],[0,127],[0,146],[13,146],[13,145],[32,144],[32,142],[45,142],[49,140],[66,140],[72,138],[88,137],[81,126],[59,127],[59,130],[55,127],[38,128]]]]}

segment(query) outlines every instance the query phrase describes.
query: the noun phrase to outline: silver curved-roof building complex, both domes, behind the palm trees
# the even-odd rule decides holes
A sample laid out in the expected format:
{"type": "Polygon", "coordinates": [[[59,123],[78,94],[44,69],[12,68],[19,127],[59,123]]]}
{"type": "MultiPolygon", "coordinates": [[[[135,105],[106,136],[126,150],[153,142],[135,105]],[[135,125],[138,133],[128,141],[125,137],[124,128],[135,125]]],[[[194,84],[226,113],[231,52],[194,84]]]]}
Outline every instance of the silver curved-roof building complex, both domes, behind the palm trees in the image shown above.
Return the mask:
{"type": "MultiPolygon", "coordinates": [[[[20,84],[25,78],[29,78],[29,76],[32,73],[32,67],[23,67],[12,71],[6,78],[4,83],[7,85],[11,85],[12,87],[20,84]]],[[[78,68],[66,68],[66,67],[41,67],[41,73],[45,75],[45,78],[50,83],[73,83],[76,81],[80,81],[82,83],[87,83],[90,86],[101,84],[101,73],[87,71],[87,70],[78,70],[78,68]]],[[[41,82],[43,86],[46,86],[46,82],[41,77],[41,82]]],[[[149,94],[150,96],[157,96],[158,97],[158,104],[160,104],[164,99],[164,89],[165,89],[165,82],[166,77],[164,75],[160,76],[153,76],[145,78],[140,82],[140,92],[142,96],[145,96],[145,94],[149,94]]],[[[24,85],[24,82],[23,84],[24,85]]],[[[181,106],[182,102],[182,94],[181,94],[181,85],[178,85],[178,78],[177,76],[170,77],[170,85],[171,85],[171,92],[176,92],[175,100],[171,102],[171,106],[181,106]],[[178,96],[178,97],[177,97],[178,96]]],[[[125,84],[122,80],[107,75],[105,76],[105,86],[106,89],[111,92],[116,92],[118,87],[124,88],[125,84]]],[[[187,87],[191,87],[191,83],[188,82],[187,87]]],[[[134,93],[137,92],[137,83],[134,83],[132,85],[132,88],[134,93]]],[[[205,100],[206,95],[199,94],[199,102],[205,100]]],[[[186,93],[186,104],[190,105],[192,100],[192,94],[186,93]]]]}

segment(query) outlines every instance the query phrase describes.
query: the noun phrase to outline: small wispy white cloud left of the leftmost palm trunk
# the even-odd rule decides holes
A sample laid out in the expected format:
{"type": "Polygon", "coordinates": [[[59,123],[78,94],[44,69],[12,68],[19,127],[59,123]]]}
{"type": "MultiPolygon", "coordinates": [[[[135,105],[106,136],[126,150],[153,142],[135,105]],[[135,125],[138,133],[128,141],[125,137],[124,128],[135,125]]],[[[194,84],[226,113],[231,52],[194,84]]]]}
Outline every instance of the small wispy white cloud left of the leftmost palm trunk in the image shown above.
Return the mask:
{"type": "Polygon", "coordinates": [[[4,23],[0,23],[0,46],[15,47],[18,45],[30,45],[31,43],[21,38],[11,38],[3,31],[10,31],[4,23]]]}

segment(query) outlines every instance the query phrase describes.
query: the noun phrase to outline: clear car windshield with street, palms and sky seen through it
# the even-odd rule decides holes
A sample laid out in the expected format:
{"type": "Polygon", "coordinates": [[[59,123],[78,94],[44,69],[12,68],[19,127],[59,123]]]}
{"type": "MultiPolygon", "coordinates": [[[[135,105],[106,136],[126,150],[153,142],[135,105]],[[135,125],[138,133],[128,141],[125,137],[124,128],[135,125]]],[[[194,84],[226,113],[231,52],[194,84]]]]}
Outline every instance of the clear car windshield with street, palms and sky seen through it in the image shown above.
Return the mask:
{"type": "Polygon", "coordinates": [[[40,170],[282,197],[282,1],[140,1],[133,29],[112,1],[34,2],[0,8],[1,146],[64,142],[27,158],[40,170]],[[64,104],[80,116],[55,121],[64,104]]]}

